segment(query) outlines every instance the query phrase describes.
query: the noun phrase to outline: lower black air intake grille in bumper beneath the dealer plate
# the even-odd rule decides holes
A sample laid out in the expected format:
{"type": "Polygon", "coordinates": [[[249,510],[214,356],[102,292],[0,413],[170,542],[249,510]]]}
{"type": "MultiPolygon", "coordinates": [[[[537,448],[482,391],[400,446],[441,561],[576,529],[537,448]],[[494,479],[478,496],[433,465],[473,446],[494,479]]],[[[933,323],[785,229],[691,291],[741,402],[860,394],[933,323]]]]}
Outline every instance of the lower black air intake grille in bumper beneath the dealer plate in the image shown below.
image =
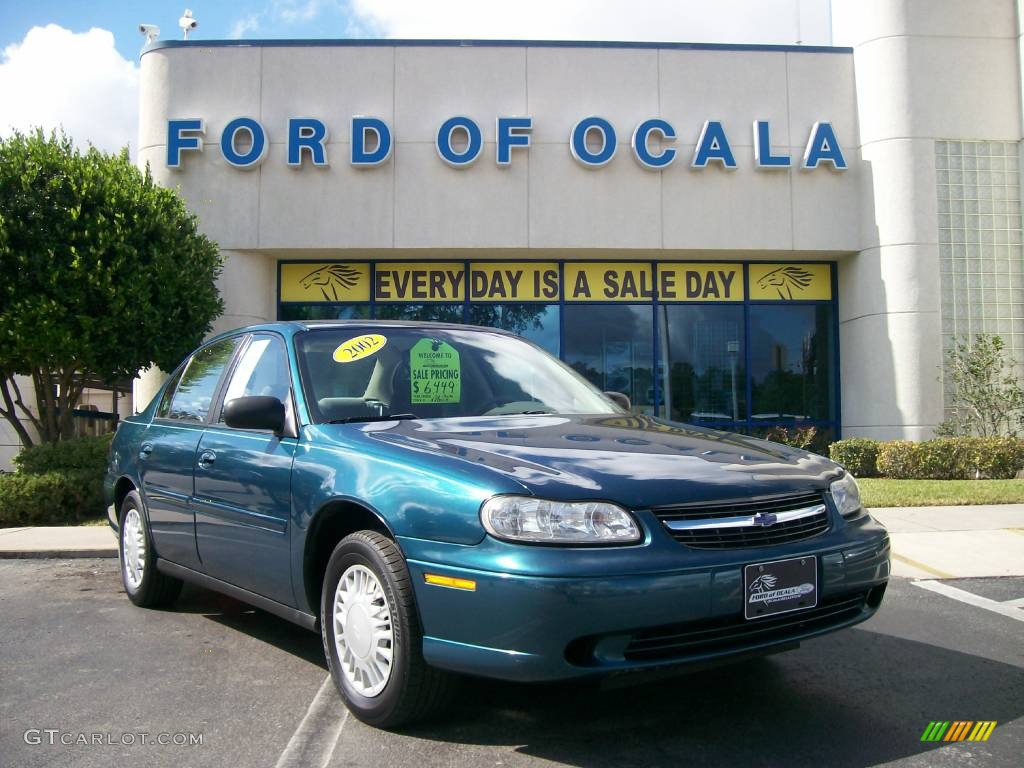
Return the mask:
{"type": "Polygon", "coordinates": [[[733,615],[644,630],[632,637],[625,656],[631,662],[648,662],[784,643],[855,620],[864,610],[867,597],[867,592],[847,594],[825,600],[815,608],[772,618],[746,621],[733,615]]]}

